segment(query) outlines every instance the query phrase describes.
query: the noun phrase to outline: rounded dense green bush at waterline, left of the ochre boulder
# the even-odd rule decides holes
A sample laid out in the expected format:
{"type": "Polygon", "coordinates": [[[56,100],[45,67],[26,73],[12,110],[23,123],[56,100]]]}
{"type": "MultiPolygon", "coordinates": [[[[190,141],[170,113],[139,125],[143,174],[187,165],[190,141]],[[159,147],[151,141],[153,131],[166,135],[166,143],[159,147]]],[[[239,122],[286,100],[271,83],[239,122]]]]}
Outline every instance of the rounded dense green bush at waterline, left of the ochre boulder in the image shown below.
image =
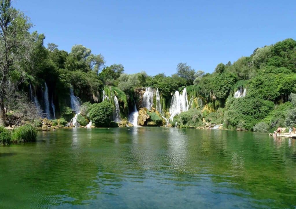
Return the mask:
{"type": "Polygon", "coordinates": [[[91,105],[89,118],[96,127],[108,127],[110,126],[112,112],[113,105],[105,100],[91,105]]]}

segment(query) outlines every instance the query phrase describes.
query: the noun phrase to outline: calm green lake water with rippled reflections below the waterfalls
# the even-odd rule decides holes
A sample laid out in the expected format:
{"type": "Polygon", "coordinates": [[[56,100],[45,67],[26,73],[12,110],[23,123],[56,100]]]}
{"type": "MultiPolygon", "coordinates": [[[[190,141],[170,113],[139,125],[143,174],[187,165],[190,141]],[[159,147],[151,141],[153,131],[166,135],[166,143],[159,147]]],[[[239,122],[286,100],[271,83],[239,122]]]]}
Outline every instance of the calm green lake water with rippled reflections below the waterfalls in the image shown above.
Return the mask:
{"type": "Polygon", "coordinates": [[[296,142],[180,128],[61,129],[0,147],[0,208],[295,208],[296,142]]]}

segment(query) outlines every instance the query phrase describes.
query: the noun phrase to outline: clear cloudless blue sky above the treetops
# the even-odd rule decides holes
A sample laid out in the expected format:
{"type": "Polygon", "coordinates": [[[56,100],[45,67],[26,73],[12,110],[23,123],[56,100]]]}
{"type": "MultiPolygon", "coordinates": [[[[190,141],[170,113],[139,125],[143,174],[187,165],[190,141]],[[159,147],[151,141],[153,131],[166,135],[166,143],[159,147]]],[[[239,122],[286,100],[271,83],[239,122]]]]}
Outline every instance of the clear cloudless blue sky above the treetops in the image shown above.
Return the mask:
{"type": "Polygon", "coordinates": [[[257,47],[296,39],[296,1],[14,0],[47,43],[82,44],[126,73],[213,72],[257,47]],[[266,3],[263,3],[266,2],[266,3]]]}

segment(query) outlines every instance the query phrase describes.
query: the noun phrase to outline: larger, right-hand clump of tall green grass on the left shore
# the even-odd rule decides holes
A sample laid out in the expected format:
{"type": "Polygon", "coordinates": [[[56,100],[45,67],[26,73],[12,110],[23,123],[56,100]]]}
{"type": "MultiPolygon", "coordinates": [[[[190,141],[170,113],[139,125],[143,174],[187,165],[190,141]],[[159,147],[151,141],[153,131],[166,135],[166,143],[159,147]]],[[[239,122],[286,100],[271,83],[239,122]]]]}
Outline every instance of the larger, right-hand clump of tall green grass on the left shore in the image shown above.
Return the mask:
{"type": "Polygon", "coordinates": [[[36,142],[37,129],[31,124],[20,126],[12,131],[12,141],[14,143],[36,142]]]}

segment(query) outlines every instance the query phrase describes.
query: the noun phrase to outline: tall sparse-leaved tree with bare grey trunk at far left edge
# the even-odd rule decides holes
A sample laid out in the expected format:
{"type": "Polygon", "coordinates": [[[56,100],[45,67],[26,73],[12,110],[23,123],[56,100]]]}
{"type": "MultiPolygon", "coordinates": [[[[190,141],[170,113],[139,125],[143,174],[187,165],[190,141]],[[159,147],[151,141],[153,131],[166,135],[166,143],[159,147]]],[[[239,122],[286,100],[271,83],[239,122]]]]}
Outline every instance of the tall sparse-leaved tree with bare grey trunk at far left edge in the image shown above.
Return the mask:
{"type": "Polygon", "coordinates": [[[29,57],[28,32],[32,24],[19,10],[11,6],[10,0],[0,0],[0,125],[4,125],[6,91],[10,73],[20,71],[18,60],[29,57]]]}

